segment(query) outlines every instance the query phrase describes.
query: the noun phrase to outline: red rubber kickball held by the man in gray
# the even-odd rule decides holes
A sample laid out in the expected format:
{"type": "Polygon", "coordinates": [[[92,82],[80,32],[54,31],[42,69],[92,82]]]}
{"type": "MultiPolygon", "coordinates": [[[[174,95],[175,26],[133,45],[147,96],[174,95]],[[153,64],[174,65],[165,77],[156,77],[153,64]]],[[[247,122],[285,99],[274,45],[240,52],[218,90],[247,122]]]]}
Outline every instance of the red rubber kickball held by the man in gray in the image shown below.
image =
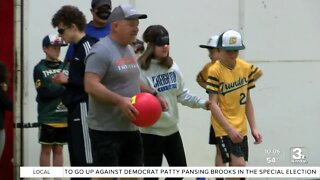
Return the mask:
{"type": "Polygon", "coordinates": [[[135,125],[149,127],[159,120],[162,109],[154,95],[139,93],[131,98],[131,103],[139,111],[139,115],[132,121],[135,125]]]}

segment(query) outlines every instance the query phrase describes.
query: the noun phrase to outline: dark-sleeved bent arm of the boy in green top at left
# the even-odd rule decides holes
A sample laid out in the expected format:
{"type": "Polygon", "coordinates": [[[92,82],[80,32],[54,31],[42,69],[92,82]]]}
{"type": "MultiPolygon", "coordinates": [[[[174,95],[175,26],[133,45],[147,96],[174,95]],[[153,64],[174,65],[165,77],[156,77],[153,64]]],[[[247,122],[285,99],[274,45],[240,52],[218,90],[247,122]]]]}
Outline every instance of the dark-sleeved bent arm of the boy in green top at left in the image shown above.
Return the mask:
{"type": "Polygon", "coordinates": [[[38,96],[42,98],[60,97],[65,90],[63,86],[57,86],[51,84],[51,82],[47,82],[48,80],[44,78],[42,72],[38,68],[35,68],[33,71],[33,80],[38,96]]]}

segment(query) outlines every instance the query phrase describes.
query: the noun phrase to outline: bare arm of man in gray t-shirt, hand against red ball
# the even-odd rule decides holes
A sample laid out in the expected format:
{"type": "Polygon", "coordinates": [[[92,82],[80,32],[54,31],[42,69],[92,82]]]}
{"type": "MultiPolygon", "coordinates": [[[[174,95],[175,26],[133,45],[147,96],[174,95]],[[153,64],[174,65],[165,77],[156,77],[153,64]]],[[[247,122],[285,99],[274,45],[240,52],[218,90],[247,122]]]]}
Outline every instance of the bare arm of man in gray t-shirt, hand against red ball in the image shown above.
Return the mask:
{"type": "Polygon", "coordinates": [[[95,98],[106,104],[115,104],[120,107],[122,112],[131,120],[138,115],[138,110],[131,104],[131,98],[120,96],[110,91],[101,82],[98,74],[86,72],[84,76],[85,91],[95,98]]]}

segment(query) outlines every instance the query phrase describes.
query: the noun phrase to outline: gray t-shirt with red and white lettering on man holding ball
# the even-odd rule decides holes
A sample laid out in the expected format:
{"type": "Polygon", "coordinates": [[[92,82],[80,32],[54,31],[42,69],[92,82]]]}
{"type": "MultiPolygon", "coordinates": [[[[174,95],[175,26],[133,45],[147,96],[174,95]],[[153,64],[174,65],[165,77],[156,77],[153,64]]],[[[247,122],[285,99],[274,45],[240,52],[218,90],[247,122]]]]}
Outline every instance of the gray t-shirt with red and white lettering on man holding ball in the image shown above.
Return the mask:
{"type": "MultiPolygon", "coordinates": [[[[140,92],[140,69],[132,48],[121,46],[109,36],[96,43],[86,58],[86,72],[98,74],[101,83],[121,96],[140,92]]],[[[106,104],[89,95],[88,125],[99,131],[135,131],[138,128],[115,104],[106,104]]]]}

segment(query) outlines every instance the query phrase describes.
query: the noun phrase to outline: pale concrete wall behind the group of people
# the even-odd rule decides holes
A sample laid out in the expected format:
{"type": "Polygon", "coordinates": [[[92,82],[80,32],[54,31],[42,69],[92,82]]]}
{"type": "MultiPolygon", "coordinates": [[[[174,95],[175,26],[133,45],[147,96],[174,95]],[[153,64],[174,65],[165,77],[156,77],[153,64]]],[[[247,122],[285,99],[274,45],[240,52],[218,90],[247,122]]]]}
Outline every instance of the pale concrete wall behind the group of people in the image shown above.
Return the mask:
{"type": "MultiPolygon", "coordinates": [[[[227,29],[239,30],[246,45],[241,57],[262,68],[264,76],[252,91],[256,121],[264,142],[253,145],[251,166],[291,166],[292,147],[302,147],[309,166],[319,166],[318,95],[320,28],[317,0],[161,0],[113,1],[114,7],[131,2],[148,14],[140,21],[140,33],[151,24],[162,24],[170,33],[170,54],[184,73],[187,87],[201,97],[207,94],[195,76],[208,62],[207,51],[199,44],[227,29]],[[273,151],[275,153],[269,153],[273,151]],[[278,153],[280,152],[280,153],[278,153]],[[275,158],[268,163],[267,158],[275,158]]],[[[50,21],[64,4],[77,5],[91,19],[90,0],[28,0],[24,7],[25,121],[36,122],[36,91],[32,83],[34,65],[44,57],[42,38],[56,32],[50,21]]],[[[62,51],[62,59],[64,56],[62,51]]],[[[213,166],[214,147],[208,145],[210,113],[180,107],[180,130],[188,164],[213,166]]],[[[25,129],[25,165],[37,166],[40,146],[37,129],[25,129]]],[[[66,165],[68,162],[66,162],[66,165]]]]}

